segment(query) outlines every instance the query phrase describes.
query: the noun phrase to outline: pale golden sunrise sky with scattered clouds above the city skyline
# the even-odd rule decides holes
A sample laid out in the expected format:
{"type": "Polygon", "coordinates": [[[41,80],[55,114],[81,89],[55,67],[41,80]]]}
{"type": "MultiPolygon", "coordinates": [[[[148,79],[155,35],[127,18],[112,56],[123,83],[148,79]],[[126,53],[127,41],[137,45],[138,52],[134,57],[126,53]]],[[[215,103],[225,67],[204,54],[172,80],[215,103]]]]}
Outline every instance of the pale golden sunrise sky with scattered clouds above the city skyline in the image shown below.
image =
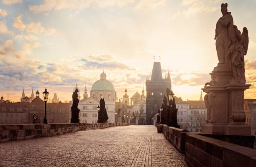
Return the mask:
{"type": "Polygon", "coordinates": [[[47,88],[72,100],[76,83],[89,94],[104,70],[118,98],[125,84],[131,97],[161,56],[174,94],[199,100],[218,63],[221,3],[248,28],[244,98],[256,99],[256,0],[0,0],[0,94],[17,102],[23,87],[26,96],[47,88]]]}

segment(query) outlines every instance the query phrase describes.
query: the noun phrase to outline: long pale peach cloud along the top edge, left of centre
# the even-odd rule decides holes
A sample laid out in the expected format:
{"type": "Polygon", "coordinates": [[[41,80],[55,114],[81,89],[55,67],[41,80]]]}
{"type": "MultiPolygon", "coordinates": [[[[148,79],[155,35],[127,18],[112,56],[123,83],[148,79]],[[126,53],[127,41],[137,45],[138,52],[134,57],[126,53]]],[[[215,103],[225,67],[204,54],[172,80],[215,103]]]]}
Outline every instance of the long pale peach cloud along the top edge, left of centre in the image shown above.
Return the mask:
{"type": "Polygon", "coordinates": [[[90,9],[102,9],[109,6],[118,6],[122,7],[127,4],[134,3],[135,0],[44,0],[44,3],[41,5],[29,5],[29,11],[33,13],[49,12],[52,9],[61,10],[61,9],[72,9],[72,10],[81,10],[84,8],[90,9]]]}

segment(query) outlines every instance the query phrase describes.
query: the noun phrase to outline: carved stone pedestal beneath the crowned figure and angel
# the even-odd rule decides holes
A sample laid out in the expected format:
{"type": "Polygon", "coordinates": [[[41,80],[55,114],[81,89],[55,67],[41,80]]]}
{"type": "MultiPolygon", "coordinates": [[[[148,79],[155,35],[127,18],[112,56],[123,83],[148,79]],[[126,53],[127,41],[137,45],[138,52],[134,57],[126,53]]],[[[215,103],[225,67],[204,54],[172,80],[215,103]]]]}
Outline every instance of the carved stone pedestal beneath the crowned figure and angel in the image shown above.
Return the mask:
{"type": "Polygon", "coordinates": [[[207,93],[207,124],[202,126],[202,133],[250,135],[251,128],[245,124],[243,93],[251,85],[232,80],[233,73],[228,64],[218,64],[210,75],[212,81],[202,89],[207,93]]]}

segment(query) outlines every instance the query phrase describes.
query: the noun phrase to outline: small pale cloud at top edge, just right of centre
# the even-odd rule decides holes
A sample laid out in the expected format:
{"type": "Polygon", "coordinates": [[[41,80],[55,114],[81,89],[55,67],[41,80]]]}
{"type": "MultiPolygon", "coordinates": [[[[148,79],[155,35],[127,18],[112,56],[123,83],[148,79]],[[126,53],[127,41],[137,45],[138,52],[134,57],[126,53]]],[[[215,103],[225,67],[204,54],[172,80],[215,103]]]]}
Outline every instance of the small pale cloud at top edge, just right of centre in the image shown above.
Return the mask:
{"type": "Polygon", "coordinates": [[[154,10],[155,8],[165,5],[167,0],[140,0],[135,6],[135,10],[154,10]]]}

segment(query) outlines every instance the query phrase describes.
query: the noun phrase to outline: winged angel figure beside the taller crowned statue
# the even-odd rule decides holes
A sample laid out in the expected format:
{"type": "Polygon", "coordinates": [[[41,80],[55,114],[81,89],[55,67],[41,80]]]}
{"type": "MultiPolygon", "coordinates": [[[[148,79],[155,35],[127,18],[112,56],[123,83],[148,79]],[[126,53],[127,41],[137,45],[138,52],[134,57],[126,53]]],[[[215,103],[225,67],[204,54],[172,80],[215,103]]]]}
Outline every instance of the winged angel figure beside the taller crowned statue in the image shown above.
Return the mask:
{"type": "Polygon", "coordinates": [[[243,33],[238,30],[236,25],[229,28],[230,43],[228,45],[228,56],[231,60],[231,67],[233,71],[233,78],[231,84],[245,84],[246,79],[244,75],[244,56],[248,50],[248,30],[243,28],[243,33]]]}

